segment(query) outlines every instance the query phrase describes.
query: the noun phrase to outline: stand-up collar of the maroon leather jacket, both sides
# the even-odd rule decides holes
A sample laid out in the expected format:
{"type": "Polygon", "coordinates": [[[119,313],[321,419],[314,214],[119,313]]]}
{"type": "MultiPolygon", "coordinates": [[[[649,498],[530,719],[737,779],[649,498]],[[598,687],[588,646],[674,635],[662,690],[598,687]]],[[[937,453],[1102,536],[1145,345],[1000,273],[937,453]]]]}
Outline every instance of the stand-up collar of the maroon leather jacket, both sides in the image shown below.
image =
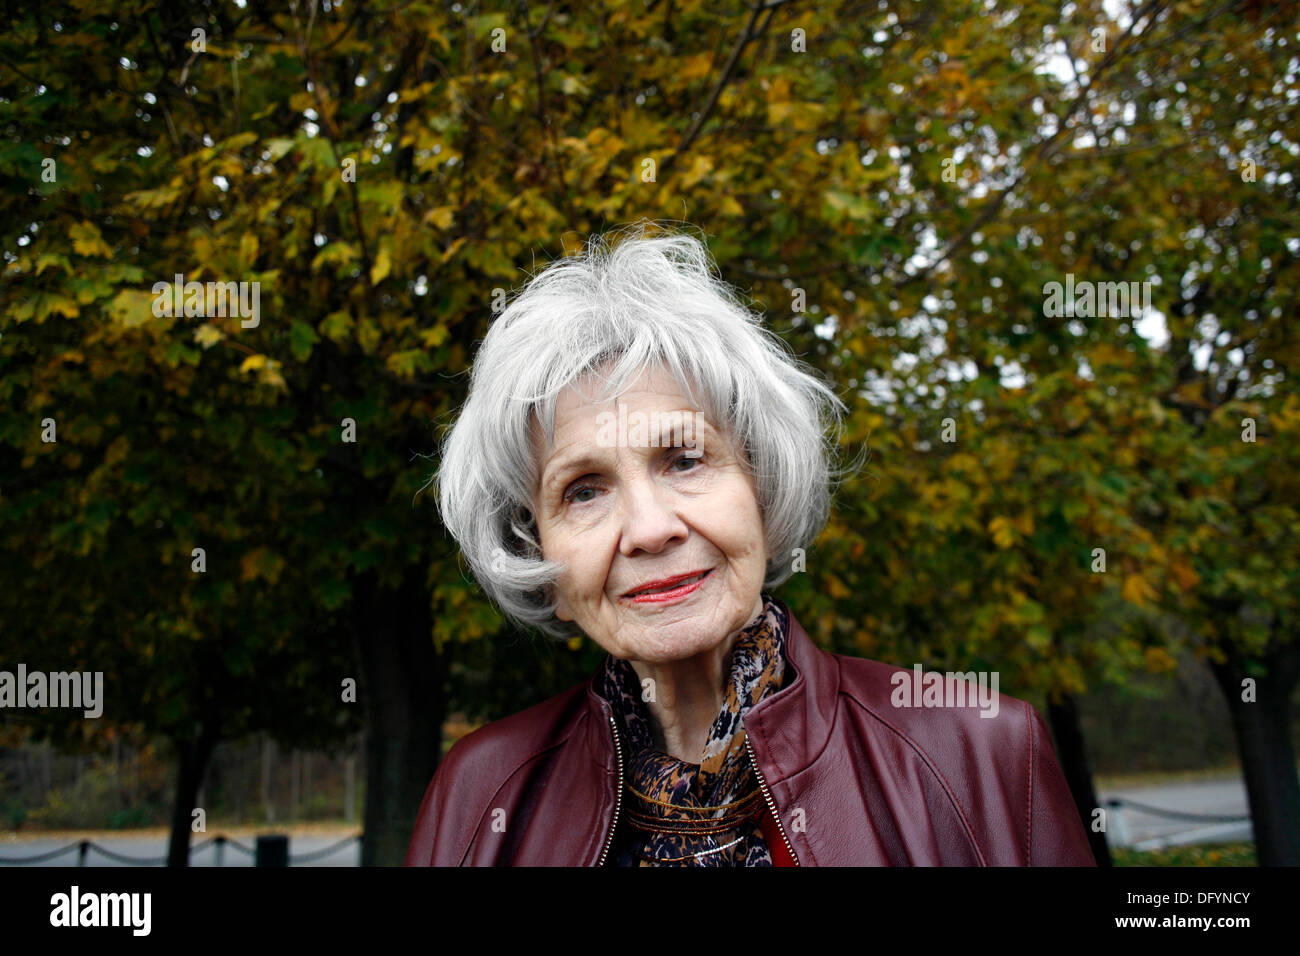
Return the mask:
{"type": "MultiPolygon", "coordinates": [[[[833,656],[818,648],[784,602],[774,598],[785,614],[785,659],[794,679],[764,697],[745,714],[745,734],[754,748],[759,770],[768,786],[806,770],[826,748],[835,724],[840,693],[840,667],[833,656]]],[[[619,771],[614,745],[614,709],[597,693],[601,669],[586,683],[588,750],[604,773],[619,771]]],[[[621,741],[627,748],[627,741],[621,741]]],[[[629,754],[624,753],[624,760],[629,754]]]]}

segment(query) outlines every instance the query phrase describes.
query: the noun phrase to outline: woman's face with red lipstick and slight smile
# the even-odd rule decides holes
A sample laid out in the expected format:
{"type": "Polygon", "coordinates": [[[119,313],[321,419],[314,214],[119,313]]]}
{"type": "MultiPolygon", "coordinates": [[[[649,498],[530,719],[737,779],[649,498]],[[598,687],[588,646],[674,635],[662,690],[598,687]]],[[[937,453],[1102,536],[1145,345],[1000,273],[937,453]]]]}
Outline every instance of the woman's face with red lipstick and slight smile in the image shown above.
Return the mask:
{"type": "Polygon", "coordinates": [[[767,549],[753,479],[668,372],[603,405],[566,389],[554,445],[536,423],[533,436],[542,555],[566,566],[562,620],[618,658],[664,663],[758,617],[767,549]]]}

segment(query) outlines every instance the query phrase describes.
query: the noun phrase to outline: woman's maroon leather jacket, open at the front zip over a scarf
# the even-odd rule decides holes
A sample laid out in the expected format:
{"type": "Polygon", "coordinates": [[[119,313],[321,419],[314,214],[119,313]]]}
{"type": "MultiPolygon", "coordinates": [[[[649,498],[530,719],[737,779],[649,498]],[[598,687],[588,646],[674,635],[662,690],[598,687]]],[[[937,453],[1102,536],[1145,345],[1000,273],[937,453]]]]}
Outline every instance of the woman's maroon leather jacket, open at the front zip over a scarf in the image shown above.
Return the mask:
{"type": "MultiPolygon", "coordinates": [[[[896,708],[898,667],[827,653],[785,613],[794,678],[744,723],[794,864],[1095,865],[1034,708],[1006,696],[992,718],[896,708]]],[[[429,784],[406,865],[603,865],[621,810],[619,737],[594,676],[468,734],[429,784]]]]}

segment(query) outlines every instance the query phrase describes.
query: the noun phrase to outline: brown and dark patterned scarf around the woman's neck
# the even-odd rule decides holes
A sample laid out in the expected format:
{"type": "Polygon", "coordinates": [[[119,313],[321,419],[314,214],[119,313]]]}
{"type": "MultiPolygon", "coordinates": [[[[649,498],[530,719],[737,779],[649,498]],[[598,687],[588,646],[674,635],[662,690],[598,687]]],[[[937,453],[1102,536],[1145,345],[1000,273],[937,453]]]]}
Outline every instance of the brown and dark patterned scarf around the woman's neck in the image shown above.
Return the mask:
{"type": "Polygon", "coordinates": [[[745,747],[741,718],[763,697],[781,689],[784,648],[785,615],[763,594],[762,614],[736,637],[727,700],[708,731],[699,763],[655,749],[636,671],[627,661],[606,658],[602,696],[612,705],[623,739],[630,744],[623,795],[630,826],[614,858],[616,865],[772,865],[759,831],[759,817],[767,808],[745,747]],[[654,831],[684,829],[688,821],[698,826],[705,819],[722,821],[703,823],[718,831],[654,831]]]}

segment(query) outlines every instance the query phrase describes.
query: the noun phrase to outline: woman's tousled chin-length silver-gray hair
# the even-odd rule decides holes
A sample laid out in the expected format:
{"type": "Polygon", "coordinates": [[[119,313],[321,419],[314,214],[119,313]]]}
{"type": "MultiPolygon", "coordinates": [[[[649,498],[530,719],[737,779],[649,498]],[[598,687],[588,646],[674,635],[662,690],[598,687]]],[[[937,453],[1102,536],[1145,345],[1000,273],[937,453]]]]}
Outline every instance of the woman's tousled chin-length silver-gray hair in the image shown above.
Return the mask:
{"type": "Polygon", "coordinates": [[[554,441],[556,395],[607,364],[601,401],[662,365],[745,451],[763,514],[764,588],[790,576],[793,549],[812,542],[829,511],[827,431],[838,431],[844,405],[712,274],[703,242],[649,234],[653,225],[592,237],[510,300],[442,446],[438,509],[478,584],[508,618],[558,637],[581,631],[555,617],[563,568],[537,541],[533,416],[554,441]]]}

